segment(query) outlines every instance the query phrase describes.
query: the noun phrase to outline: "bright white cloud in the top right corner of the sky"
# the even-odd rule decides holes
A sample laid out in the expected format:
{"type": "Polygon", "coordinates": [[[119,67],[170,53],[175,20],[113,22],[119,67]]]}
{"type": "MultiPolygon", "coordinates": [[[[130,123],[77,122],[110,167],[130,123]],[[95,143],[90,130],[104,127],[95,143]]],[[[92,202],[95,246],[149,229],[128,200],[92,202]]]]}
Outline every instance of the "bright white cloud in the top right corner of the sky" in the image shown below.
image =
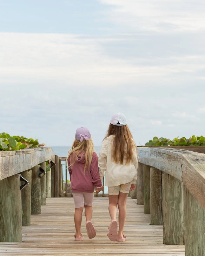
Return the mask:
{"type": "Polygon", "coordinates": [[[200,31],[205,28],[203,1],[101,0],[110,5],[110,20],[131,29],[159,33],[200,31]],[[191,10],[191,11],[190,11],[191,10]]]}

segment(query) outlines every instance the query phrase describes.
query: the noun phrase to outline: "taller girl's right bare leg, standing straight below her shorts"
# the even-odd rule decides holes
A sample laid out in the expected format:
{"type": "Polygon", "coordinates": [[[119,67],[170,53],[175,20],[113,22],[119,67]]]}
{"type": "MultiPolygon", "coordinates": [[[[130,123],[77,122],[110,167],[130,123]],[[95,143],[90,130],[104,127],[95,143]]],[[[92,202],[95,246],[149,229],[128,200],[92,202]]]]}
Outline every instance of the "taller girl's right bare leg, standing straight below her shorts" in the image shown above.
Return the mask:
{"type": "Polygon", "coordinates": [[[118,197],[118,222],[119,222],[119,230],[118,230],[118,238],[123,238],[123,229],[125,226],[125,219],[127,214],[126,202],[127,202],[128,193],[119,193],[118,197]]]}

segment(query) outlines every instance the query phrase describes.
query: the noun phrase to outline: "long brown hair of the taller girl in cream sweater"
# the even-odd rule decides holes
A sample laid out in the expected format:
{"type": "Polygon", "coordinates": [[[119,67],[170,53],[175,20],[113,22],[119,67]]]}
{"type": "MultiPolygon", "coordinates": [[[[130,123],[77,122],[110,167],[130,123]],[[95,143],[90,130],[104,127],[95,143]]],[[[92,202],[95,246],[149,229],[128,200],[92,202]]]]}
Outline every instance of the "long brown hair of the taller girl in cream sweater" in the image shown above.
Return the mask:
{"type": "Polygon", "coordinates": [[[127,125],[118,126],[110,124],[104,139],[110,135],[114,135],[112,144],[113,162],[123,164],[125,157],[125,164],[129,164],[133,158],[133,151],[137,147],[130,129],[127,125]]]}

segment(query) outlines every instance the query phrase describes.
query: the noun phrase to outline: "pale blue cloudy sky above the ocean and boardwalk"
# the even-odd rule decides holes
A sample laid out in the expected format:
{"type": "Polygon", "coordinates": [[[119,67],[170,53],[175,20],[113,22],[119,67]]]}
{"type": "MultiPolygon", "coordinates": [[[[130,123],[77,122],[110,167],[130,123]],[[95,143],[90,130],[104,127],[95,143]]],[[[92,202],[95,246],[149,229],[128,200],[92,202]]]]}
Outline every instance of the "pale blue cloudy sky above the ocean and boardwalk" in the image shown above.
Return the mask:
{"type": "Polygon", "coordinates": [[[114,113],[137,145],[205,136],[204,0],[1,0],[0,133],[100,146],[114,113]]]}

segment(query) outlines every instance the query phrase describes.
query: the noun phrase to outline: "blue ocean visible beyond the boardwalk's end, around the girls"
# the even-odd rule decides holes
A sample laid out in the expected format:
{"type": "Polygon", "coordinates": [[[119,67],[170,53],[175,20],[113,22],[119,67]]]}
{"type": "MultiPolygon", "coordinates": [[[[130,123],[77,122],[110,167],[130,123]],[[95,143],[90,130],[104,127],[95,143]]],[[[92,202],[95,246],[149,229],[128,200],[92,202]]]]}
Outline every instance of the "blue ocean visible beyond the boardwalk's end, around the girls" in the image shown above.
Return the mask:
{"type": "MultiPolygon", "coordinates": [[[[59,157],[67,157],[68,150],[71,148],[71,146],[51,146],[51,147],[52,147],[55,155],[57,155],[59,157]]],[[[95,151],[99,156],[100,146],[95,146],[95,151]]],[[[62,164],[63,180],[65,180],[65,177],[66,177],[65,161],[62,161],[61,164],[62,164]]],[[[70,180],[70,176],[69,176],[68,172],[67,172],[67,178],[68,178],[68,180],[70,180]]],[[[102,191],[100,191],[100,193],[102,193],[102,191]]],[[[107,193],[107,186],[104,187],[104,193],[107,193]]]]}

